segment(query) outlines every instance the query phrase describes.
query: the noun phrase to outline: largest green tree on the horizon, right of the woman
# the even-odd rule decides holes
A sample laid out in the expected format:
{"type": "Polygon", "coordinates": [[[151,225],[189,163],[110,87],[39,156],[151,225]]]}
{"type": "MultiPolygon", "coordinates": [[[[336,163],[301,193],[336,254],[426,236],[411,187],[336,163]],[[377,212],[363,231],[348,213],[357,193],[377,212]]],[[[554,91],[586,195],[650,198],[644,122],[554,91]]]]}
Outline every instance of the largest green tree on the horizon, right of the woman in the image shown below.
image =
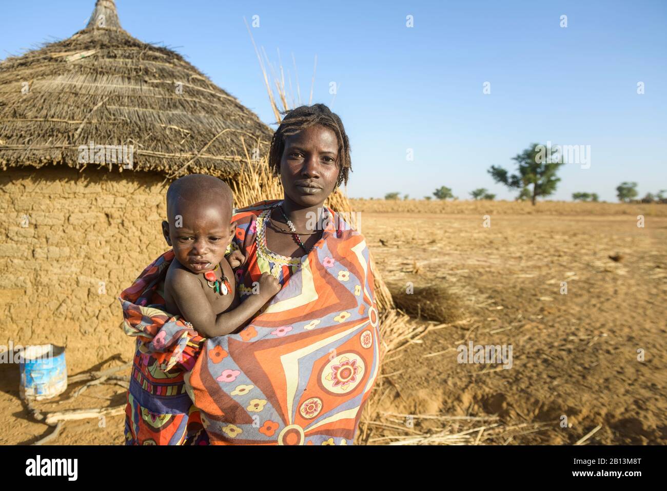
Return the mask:
{"type": "Polygon", "coordinates": [[[538,196],[548,196],[556,191],[556,185],[560,181],[560,177],[556,177],[556,172],[564,164],[559,151],[552,153],[552,149],[546,145],[533,143],[512,160],[518,163],[518,173],[509,175],[507,169],[497,165],[492,165],[488,173],[497,183],[504,184],[510,189],[520,189],[517,199],[530,197],[534,205],[538,196]]]}

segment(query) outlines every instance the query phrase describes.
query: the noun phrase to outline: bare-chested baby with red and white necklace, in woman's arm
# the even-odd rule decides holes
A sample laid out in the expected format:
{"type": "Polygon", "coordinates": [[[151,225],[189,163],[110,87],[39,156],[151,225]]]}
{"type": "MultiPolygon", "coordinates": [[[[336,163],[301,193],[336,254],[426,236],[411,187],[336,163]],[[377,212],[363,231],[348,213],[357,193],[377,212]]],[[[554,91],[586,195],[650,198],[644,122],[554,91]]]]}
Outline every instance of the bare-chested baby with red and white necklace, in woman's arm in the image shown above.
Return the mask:
{"type": "Polygon", "coordinates": [[[232,202],[229,186],[211,175],[185,175],[167,190],[162,233],[175,257],[165,278],[165,310],[182,316],[205,338],[234,332],[281,288],[264,273],[257,294],[239,305],[230,262],[239,266],[242,255],[225,258],[236,227],[230,223],[232,202]]]}

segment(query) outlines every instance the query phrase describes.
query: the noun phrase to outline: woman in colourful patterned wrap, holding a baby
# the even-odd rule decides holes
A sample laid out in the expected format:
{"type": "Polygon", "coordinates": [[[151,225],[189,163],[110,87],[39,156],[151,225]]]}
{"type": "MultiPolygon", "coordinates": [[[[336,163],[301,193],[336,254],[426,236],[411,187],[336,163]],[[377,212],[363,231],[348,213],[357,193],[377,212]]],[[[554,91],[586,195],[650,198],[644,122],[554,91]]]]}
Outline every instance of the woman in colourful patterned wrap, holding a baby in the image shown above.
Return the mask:
{"type": "Polygon", "coordinates": [[[138,337],[129,444],[352,444],[380,338],[366,241],[323,206],[350,171],[338,115],[322,104],[286,113],[269,166],[284,197],[239,210],[232,244],[241,301],[263,272],[282,289],[238,334],[204,340],[155,309],[169,252],[121,295],[138,337]],[[181,398],[177,414],[159,404],[165,392],[181,398]]]}

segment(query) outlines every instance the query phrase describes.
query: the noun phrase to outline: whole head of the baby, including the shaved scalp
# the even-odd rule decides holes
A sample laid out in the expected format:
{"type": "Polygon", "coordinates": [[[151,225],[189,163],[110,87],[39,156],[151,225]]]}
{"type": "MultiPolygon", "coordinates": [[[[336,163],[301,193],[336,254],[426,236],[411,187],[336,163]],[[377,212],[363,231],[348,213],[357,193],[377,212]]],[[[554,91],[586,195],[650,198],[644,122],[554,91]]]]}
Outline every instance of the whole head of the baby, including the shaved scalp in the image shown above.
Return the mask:
{"type": "Polygon", "coordinates": [[[169,185],[162,233],[191,272],[211,271],[225,257],[236,225],[229,223],[232,201],[229,186],[212,175],[185,175],[169,185]]]}

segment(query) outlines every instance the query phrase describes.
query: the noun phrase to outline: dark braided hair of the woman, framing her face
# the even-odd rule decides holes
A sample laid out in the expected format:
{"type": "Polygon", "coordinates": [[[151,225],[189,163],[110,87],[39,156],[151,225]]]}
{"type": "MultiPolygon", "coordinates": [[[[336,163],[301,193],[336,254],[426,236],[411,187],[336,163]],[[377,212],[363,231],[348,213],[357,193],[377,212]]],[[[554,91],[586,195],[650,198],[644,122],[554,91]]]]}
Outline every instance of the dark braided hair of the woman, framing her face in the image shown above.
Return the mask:
{"type": "Polygon", "coordinates": [[[285,149],[285,137],[295,135],[302,129],[309,128],[313,125],[322,125],[336,133],[338,138],[338,180],[336,187],[341,183],[348,183],[348,175],[352,170],[352,161],[350,160],[350,140],[348,134],[343,127],[343,121],[340,120],[338,114],[332,113],[324,104],[302,105],[291,109],[290,111],[283,111],[281,114],[285,115],[283,120],[271,139],[271,149],[269,150],[269,168],[273,170],[275,175],[280,173],[280,161],[283,158],[283,150],[285,149]]]}

